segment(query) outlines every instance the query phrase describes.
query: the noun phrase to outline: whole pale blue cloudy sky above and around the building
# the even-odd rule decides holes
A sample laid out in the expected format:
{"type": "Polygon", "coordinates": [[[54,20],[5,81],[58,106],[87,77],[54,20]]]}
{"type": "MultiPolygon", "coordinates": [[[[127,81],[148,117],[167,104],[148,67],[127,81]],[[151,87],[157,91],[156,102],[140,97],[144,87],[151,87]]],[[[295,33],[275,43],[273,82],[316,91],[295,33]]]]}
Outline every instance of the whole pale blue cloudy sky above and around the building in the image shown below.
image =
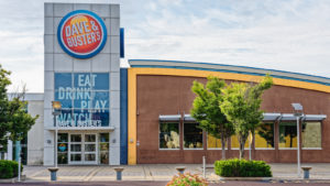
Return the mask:
{"type": "Polygon", "coordinates": [[[329,0],[0,1],[10,90],[43,92],[44,2],[120,3],[125,59],[175,59],[330,77],[329,0]]]}

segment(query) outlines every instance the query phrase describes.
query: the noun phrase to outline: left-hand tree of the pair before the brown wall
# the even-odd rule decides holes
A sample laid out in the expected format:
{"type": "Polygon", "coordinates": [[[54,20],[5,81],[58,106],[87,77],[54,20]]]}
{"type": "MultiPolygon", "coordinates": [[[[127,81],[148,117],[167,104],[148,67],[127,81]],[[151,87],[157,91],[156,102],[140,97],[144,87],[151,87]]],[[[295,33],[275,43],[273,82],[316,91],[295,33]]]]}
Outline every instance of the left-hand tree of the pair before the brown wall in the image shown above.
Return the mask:
{"type": "Polygon", "coordinates": [[[226,144],[234,133],[233,124],[223,114],[220,103],[223,101],[221,89],[226,87],[224,80],[217,77],[208,77],[206,86],[194,81],[191,90],[196,94],[190,110],[191,117],[196,119],[199,127],[208,134],[221,139],[222,158],[226,158],[226,144]]]}

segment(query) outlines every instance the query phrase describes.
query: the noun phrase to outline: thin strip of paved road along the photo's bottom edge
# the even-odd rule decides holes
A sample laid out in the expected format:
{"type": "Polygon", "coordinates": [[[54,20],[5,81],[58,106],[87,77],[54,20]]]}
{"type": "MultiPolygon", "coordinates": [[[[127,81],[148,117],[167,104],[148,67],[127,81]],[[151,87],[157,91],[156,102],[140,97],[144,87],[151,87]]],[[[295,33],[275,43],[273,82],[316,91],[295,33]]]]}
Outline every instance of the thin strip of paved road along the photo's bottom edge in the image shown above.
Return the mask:
{"type": "MultiPolygon", "coordinates": [[[[84,183],[21,183],[21,184],[0,184],[0,186],[165,186],[166,182],[147,182],[147,180],[123,180],[123,182],[84,182],[84,183]]],[[[212,183],[210,186],[329,186],[326,183],[263,183],[263,182],[221,182],[212,183]]]]}

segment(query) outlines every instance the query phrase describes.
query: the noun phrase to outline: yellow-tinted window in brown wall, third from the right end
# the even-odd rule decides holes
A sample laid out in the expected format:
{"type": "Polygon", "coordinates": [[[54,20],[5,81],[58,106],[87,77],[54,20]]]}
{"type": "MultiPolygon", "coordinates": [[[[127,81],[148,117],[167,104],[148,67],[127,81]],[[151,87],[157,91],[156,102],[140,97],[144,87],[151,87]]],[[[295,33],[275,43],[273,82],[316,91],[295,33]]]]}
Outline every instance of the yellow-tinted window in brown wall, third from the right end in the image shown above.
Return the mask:
{"type": "Polygon", "coordinates": [[[274,147],[274,123],[262,123],[254,132],[255,147],[274,147]]]}

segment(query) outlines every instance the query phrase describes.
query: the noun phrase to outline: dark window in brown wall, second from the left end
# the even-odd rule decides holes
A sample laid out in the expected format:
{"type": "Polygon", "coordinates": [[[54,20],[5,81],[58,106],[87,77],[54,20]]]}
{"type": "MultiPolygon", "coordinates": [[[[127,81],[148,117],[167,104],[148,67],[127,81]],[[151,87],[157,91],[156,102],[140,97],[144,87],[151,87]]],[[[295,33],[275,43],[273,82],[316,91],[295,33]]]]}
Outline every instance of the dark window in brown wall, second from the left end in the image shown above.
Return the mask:
{"type": "Polygon", "coordinates": [[[202,130],[198,123],[184,123],[184,147],[202,149],[202,130]]]}

